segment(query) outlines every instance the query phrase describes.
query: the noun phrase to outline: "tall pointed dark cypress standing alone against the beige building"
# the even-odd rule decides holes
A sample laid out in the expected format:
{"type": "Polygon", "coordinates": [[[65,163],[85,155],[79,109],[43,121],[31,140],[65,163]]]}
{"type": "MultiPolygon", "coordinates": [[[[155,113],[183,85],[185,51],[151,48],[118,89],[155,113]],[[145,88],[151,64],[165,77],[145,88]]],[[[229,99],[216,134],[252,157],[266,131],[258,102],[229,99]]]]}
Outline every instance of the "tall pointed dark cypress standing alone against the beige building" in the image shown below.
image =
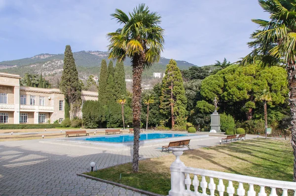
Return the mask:
{"type": "Polygon", "coordinates": [[[64,55],[64,67],[60,90],[68,100],[70,106],[70,119],[73,119],[75,110],[81,105],[81,83],[79,82],[78,72],[70,45],[66,45],[64,55]]]}

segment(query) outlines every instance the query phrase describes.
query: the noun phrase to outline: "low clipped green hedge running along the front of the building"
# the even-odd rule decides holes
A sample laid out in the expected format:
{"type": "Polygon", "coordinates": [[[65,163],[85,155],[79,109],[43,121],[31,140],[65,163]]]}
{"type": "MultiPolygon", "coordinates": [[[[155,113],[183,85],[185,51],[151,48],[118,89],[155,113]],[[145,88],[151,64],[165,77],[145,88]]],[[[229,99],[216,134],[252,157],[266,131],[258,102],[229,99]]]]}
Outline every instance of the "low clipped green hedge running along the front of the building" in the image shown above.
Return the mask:
{"type": "Polygon", "coordinates": [[[0,124],[0,129],[50,129],[60,124],[0,124]]]}

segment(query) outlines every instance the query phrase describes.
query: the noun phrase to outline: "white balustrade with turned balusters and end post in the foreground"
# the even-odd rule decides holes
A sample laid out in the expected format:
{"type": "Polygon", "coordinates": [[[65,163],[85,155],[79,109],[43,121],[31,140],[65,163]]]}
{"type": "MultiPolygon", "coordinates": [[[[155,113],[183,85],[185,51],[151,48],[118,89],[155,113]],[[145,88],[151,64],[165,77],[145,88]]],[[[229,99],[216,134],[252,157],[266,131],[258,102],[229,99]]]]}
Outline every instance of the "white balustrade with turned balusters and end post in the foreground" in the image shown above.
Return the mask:
{"type": "Polygon", "coordinates": [[[180,156],[183,154],[185,148],[170,148],[170,150],[173,151],[173,154],[176,156],[176,160],[170,167],[171,190],[169,192],[169,196],[214,196],[216,190],[214,179],[219,180],[219,184],[217,185],[219,196],[223,196],[225,191],[228,196],[233,196],[235,194],[233,182],[235,182],[237,188],[236,194],[238,196],[246,195],[244,185],[249,185],[247,196],[267,196],[265,188],[266,190],[270,190],[269,196],[278,196],[276,193],[277,189],[281,189],[283,191],[282,196],[288,196],[288,190],[294,191],[294,196],[296,196],[296,182],[269,180],[264,178],[186,167],[180,160],[180,156]],[[190,175],[193,176],[192,181],[190,175]],[[201,178],[201,182],[199,182],[198,178],[201,178]],[[209,183],[206,179],[210,179],[209,183]],[[228,181],[226,190],[223,180],[228,181]],[[194,187],[194,191],[190,190],[191,184],[194,187]],[[260,187],[259,193],[256,193],[254,189],[255,185],[260,187]],[[199,187],[201,188],[202,193],[198,192],[199,187]],[[211,195],[206,193],[207,188],[210,190],[211,195]]]}

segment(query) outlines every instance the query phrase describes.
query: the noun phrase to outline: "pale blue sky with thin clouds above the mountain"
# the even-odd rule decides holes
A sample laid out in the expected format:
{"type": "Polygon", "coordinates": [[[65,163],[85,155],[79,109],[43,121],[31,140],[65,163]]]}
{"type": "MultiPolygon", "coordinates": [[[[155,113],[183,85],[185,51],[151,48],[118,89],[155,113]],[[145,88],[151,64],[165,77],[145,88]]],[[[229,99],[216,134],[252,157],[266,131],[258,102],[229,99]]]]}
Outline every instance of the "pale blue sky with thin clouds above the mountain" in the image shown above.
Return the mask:
{"type": "Polygon", "coordinates": [[[268,19],[258,0],[0,0],[0,61],[64,53],[68,44],[107,51],[106,34],[121,27],[110,14],[139,3],[162,17],[161,56],[197,66],[244,57],[258,28],[251,19],[268,19]]]}

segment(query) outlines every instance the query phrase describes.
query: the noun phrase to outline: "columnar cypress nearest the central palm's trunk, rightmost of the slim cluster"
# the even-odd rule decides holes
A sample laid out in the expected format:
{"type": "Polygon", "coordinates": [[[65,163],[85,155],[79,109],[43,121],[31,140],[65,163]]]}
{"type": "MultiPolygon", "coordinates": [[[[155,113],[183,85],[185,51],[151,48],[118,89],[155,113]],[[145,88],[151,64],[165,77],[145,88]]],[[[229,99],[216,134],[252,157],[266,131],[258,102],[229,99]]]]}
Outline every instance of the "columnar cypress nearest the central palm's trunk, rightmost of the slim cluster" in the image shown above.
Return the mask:
{"type": "Polygon", "coordinates": [[[116,100],[126,95],[126,83],[123,61],[116,62],[114,72],[115,96],[116,100]]]}

